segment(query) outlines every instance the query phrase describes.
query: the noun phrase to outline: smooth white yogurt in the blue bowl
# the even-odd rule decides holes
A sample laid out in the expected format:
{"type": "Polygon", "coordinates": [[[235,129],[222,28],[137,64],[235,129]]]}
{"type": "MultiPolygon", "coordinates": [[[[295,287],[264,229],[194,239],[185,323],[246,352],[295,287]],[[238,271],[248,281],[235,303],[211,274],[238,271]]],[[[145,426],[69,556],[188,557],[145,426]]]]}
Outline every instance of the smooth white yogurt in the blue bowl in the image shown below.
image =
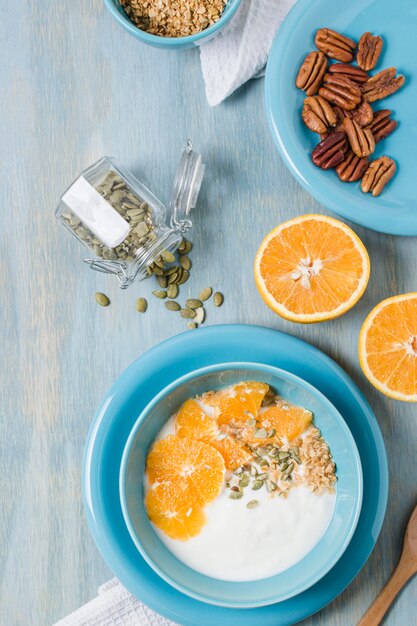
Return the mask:
{"type": "MultiPolygon", "coordinates": [[[[158,439],[173,434],[174,418],[158,439]]],[[[305,486],[288,491],[286,498],[271,496],[262,488],[244,490],[231,500],[223,488],[205,507],[207,522],[188,541],[171,539],[155,528],[167,548],[194,570],[225,581],[243,582],[279,574],[303,559],[320,541],[330,523],[335,494],[311,493],[305,486]],[[248,508],[257,500],[255,508],[248,508]]]]}

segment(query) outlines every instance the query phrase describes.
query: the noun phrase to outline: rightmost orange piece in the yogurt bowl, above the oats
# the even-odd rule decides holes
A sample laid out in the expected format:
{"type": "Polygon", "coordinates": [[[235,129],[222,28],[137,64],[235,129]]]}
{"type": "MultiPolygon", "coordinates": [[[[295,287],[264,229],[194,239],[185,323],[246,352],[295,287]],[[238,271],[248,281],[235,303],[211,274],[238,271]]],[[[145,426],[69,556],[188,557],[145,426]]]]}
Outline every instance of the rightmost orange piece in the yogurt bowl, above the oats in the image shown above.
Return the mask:
{"type": "Polygon", "coordinates": [[[313,414],[301,406],[282,403],[266,409],[261,415],[262,426],[273,428],[275,436],[292,441],[310,426],[313,414]]]}

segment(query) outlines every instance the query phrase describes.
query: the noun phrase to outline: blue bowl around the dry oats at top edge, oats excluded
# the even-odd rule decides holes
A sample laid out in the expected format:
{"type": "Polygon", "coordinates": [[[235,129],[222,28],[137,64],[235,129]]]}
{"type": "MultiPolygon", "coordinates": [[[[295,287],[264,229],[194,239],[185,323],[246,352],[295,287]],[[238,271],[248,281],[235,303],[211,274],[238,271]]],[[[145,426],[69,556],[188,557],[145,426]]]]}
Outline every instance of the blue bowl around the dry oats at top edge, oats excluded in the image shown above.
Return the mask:
{"type": "Polygon", "coordinates": [[[204,30],[188,35],[186,37],[161,37],[153,35],[138,28],[129,16],[125,13],[119,0],[104,0],[104,4],[110,11],[113,18],[131,35],[139,39],[143,43],[156,48],[164,48],[165,50],[180,50],[183,48],[192,48],[202,43],[210,41],[217,33],[230,22],[240,5],[240,0],[227,0],[226,5],[220,18],[204,30]]]}

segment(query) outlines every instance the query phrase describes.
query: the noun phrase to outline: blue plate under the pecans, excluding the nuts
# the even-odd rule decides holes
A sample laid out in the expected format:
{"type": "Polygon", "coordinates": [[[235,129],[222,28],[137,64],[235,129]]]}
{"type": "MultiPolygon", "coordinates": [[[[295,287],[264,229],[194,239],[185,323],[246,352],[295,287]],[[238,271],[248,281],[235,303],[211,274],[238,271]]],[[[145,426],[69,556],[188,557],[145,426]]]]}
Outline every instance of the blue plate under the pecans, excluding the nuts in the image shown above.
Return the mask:
{"type": "Polygon", "coordinates": [[[417,235],[416,23],[415,0],[298,0],[275,37],[265,81],[269,125],[284,163],[298,182],[335,213],[393,235],[417,235]],[[323,172],[311,161],[320,139],[301,120],[305,95],[296,88],[295,78],[307,52],[315,49],[314,35],[321,27],[356,41],[365,31],[381,35],[384,48],[372,73],[393,66],[406,78],[397,93],[373,103],[374,109],[392,109],[399,122],[395,132],[377,144],[375,157],[385,154],[397,163],[396,175],[377,198],[362,193],[360,183],[342,183],[334,171],[323,172]]]}

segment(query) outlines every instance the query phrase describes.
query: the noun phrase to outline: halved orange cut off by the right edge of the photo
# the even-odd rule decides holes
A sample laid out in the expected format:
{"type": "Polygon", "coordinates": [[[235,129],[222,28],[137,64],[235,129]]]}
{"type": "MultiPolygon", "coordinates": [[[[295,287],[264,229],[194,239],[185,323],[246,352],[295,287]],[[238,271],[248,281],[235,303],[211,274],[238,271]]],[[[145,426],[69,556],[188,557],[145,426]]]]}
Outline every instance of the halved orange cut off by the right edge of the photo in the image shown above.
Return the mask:
{"type": "Polygon", "coordinates": [[[365,376],[386,396],[417,402],[417,293],[380,302],[359,335],[365,376]]]}

